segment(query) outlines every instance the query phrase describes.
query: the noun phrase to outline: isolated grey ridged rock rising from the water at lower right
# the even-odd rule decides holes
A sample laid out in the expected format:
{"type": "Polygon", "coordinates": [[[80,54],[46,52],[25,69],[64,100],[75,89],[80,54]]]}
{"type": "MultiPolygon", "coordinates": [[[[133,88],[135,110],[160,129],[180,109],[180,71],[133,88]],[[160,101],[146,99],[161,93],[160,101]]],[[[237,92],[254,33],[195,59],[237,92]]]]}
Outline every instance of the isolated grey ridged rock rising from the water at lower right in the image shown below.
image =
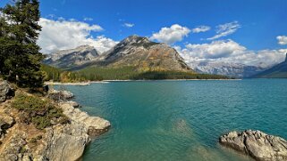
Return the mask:
{"type": "Polygon", "coordinates": [[[260,131],[234,131],[221,136],[219,142],[259,161],[287,160],[287,141],[260,131]]]}

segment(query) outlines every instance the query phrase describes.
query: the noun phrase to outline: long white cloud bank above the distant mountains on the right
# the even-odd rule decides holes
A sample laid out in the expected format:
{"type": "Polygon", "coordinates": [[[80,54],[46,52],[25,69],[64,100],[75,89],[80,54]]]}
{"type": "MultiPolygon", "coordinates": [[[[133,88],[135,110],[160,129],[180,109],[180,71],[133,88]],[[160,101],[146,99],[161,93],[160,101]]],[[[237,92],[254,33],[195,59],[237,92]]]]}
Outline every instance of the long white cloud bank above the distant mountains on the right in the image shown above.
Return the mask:
{"type": "Polygon", "coordinates": [[[188,63],[218,61],[234,62],[263,68],[280,63],[287,49],[250,51],[232,40],[214,41],[210,44],[186,44],[175,48],[188,63]]]}

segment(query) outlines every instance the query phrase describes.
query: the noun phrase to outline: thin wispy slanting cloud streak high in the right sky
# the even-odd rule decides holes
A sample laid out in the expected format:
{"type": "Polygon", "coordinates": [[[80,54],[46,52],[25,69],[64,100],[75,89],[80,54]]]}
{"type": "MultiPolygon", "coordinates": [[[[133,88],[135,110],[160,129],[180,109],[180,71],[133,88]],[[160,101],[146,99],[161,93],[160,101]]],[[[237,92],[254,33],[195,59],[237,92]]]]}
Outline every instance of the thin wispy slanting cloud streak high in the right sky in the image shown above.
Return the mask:
{"type": "Polygon", "coordinates": [[[207,40],[215,40],[223,36],[229,36],[233,34],[238,28],[241,28],[241,25],[239,24],[238,21],[232,21],[230,23],[218,25],[216,27],[216,35],[210,38],[207,38],[207,40]]]}

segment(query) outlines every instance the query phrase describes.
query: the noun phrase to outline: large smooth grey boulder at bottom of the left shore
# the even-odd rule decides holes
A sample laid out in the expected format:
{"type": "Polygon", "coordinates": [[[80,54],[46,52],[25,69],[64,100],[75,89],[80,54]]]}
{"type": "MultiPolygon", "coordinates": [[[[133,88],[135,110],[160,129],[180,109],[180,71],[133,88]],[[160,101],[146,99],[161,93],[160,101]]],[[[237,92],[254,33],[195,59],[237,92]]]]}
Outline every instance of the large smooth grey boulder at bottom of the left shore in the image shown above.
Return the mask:
{"type": "Polygon", "coordinates": [[[48,160],[73,161],[79,159],[90,138],[84,125],[72,122],[46,129],[46,150],[48,160]]]}

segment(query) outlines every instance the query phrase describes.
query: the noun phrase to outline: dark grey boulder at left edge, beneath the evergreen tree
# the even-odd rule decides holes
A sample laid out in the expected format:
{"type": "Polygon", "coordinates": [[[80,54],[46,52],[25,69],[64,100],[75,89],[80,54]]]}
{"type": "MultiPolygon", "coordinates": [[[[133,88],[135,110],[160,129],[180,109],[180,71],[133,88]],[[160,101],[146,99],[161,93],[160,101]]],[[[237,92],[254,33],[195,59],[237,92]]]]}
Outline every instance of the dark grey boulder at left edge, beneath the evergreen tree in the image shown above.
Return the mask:
{"type": "Polygon", "coordinates": [[[14,90],[7,81],[0,81],[0,102],[4,102],[14,96],[14,90]]]}

